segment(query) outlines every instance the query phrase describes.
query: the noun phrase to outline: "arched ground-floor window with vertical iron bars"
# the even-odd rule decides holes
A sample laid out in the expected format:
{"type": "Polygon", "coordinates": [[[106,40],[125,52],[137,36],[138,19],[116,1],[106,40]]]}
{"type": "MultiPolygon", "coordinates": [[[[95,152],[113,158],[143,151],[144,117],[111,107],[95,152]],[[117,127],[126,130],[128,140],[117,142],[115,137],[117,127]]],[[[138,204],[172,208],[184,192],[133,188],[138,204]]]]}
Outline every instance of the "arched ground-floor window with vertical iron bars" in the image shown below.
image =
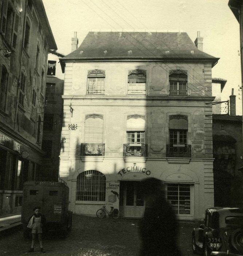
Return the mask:
{"type": "Polygon", "coordinates": [[[87,170],[77,177],[76,201],[105,201],[106,177],[96,170],[87,170]]]}

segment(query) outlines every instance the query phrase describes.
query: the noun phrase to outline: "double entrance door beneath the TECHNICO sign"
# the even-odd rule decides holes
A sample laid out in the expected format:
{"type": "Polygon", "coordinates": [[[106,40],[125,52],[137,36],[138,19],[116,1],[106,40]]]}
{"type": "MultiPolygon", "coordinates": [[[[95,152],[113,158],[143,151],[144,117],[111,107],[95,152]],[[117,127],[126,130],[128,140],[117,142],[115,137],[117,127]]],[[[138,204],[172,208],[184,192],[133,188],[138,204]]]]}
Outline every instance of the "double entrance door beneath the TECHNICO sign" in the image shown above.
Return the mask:
{"type": "Polygon", "coordinates": [[[123,209],[125,218],[142,218],[145,202],[139,181],[126,181],[123,184],[123,209]]]}

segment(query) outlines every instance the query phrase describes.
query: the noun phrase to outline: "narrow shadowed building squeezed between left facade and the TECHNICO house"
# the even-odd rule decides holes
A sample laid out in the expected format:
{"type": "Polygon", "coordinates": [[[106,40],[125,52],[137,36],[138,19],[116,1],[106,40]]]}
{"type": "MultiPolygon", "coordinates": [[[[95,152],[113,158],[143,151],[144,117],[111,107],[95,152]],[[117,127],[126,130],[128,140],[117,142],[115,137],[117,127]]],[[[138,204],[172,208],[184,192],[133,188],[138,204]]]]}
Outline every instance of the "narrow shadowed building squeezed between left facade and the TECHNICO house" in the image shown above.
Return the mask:
{"type": "Polygon", "coordinates": [[[55,51],[48,54],[42,150],[45,151],[42,178],[58,180],[61,146],[64,74],[59,63],[64,57],[55,51]]]}

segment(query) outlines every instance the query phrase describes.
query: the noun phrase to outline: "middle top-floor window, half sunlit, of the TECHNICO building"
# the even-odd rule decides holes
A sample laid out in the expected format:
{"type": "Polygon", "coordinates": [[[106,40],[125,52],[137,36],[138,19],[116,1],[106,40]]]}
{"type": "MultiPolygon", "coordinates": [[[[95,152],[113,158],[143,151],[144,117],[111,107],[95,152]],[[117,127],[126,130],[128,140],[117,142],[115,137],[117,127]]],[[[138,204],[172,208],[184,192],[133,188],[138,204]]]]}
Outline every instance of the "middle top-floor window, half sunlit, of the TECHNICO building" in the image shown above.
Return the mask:
{"type": "Polygon", "coordinates": [[[128,94],[146,94],[146,71],[141,69],[128,72],[128,94]]]}

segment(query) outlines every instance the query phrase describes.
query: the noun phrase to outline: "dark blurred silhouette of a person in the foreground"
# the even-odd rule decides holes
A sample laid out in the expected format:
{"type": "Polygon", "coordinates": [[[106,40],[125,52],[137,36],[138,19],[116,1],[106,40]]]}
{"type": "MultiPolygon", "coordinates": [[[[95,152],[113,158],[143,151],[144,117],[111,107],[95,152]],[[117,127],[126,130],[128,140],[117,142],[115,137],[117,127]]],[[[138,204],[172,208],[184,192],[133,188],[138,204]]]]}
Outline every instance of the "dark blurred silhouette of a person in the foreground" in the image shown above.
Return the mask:
{"type": "Polygon", "coordinates": [[[140,223],[140,256],[181,256],[176,215],[165,199],[162,181],[146,178],[140,183],[146,202],[140,223]]]}

